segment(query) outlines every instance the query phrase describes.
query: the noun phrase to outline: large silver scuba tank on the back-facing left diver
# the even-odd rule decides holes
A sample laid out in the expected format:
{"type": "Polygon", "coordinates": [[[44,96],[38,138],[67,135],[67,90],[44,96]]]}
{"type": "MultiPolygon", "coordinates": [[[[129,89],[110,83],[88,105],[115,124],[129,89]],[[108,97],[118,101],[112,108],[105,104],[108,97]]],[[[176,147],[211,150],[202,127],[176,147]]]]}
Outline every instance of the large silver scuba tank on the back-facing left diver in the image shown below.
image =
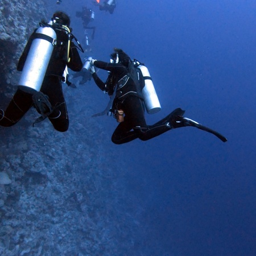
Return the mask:
{"type": "Polygon", "coordinates": [[[18,84],[28,93],[40,91],[57,38],[51,27],[39,27],[35,33],[18,84]]]}

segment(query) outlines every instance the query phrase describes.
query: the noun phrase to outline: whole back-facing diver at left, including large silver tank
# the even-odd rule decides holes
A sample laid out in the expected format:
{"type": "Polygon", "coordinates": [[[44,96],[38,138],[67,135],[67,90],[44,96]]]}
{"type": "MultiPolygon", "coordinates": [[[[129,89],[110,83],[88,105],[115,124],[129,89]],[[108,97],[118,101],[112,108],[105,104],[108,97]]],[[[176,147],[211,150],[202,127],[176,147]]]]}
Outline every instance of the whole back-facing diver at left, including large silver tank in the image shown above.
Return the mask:
{"type": "Polygon", "coordinates": [[[69,16],[61,11],[52,19],[40,22],[20,56],[17,70],[22,71],[18,89],[7,109],[0,110],[0,125],[15,125],[34,106],[41,115],[33,123],[48,118],[57,131],[67,131],[69,126],[67,106],[61,81],[68,67],[72,71],[82,69],[82,61],[75,39],[69,27],[69,16]]]}

